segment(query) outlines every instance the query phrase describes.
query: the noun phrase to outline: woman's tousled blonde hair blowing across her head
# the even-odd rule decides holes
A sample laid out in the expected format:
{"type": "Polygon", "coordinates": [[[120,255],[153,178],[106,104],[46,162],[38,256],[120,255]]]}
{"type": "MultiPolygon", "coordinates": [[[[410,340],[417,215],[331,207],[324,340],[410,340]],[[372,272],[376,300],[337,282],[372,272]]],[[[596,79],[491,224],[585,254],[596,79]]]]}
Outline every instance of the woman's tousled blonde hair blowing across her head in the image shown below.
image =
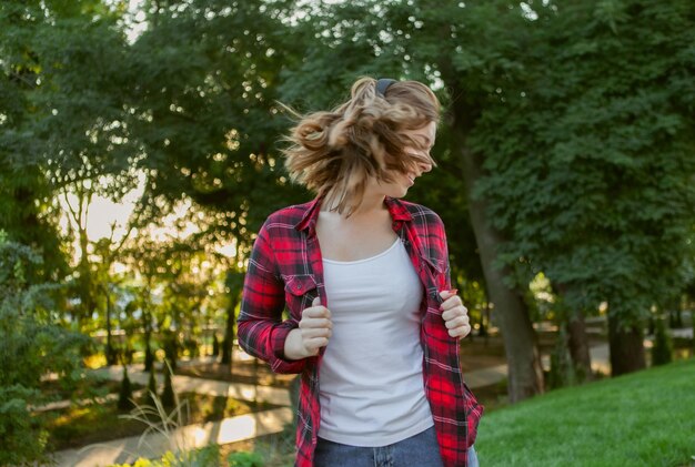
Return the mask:
{"type": "Polygon", "coordinates": [[[394,172],[407,173],[417,163],[436,165],[426,144],[409,134],[440,118],[439,100],[417,81],[395,81],[380,94],[376,80],[361,78],[351,99],[334,110],[294,115],[285,167],[293,181],[329,196],[339,213],[354,212],[369,177],[392,182],[394,172]]]}

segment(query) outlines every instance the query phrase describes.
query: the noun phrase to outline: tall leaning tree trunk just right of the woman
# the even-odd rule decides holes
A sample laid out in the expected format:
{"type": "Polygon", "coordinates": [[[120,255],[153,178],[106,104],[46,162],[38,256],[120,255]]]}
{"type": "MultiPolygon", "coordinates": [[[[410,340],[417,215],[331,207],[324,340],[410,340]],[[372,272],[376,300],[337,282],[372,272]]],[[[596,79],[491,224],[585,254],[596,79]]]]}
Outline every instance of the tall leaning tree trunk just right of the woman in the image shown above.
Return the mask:
{"type": "Polygon", "coordinates": [[[490,301],[494,304],[494,314],[497,316],[504,338],[508,365],[508,394],[513,404],[543,393],[543,367],[537,337],[521,294],[504,284],[504,277],[510,274],[508,267],[498,268],[493,265],[502,237],[487,222],[485,202],[473,199],[473,187],[482,176],[482,160],[465,146],[465,135],[457,129],[456,122],[453,132],[459,133],[454,135],[454,144],[459,144],[464,162],[471,223],[483,262],[490,301]]]}

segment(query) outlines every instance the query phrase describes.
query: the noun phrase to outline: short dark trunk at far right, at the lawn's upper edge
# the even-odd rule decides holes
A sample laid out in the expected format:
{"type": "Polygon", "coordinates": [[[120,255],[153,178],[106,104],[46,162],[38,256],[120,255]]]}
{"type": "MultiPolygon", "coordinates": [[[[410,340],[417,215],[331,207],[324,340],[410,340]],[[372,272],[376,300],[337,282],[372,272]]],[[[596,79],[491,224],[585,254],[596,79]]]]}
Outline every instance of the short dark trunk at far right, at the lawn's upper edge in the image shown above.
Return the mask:
{"type": "Polygon", "coordinates": [[[637,326],[622,327],[616,316],[608,316],[612,376],[646,368],[644,336],[642,334],[642,328],[637,326]]]}

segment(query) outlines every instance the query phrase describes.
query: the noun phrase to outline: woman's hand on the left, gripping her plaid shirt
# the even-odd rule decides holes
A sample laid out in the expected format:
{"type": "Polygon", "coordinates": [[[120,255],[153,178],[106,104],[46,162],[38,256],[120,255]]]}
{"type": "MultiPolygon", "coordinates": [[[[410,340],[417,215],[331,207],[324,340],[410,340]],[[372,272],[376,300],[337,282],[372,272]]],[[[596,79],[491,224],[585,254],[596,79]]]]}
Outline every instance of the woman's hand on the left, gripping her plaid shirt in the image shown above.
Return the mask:
{"type": "Polygon", "coordinates": [[[321,298],[316,297],[311,306],[302,312],[300,327],[288,334],[284,343],[285,358],[298,361],[319,355],[321,347],[329,344],[332,334],[331,312],[321,305],[321,298]]]}

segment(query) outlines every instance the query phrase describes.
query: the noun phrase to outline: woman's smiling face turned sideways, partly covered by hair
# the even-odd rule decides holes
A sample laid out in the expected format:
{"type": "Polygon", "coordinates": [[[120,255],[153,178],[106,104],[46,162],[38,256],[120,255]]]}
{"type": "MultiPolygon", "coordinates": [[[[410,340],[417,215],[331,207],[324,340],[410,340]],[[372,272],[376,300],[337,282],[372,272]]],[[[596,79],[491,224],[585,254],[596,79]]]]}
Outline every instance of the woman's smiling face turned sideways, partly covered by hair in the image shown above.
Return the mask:
{"type": "MultiPolygon", "coordinates": [[[[436,123],[430,122],[427,125],[411,130],[410,135],[413,140],[420,140],[426,151],[417,148],[405,148],[406,153],[421,155],[423,159],[427,159],[430,150],[434,145],[434,138],[436,135],[436,123]]],[[[376,179],[370,180],[367,184],[367,191],[374,192],[374,194],[383,194],[390,197],[403,197],[407,193],[407,189],[415,184],[415,180],[425,172],[432,170],[432,164],[429,162],[417,162],[413,169],[407,173],[393,172],[393,182],[379,181],[376,179]]]]}

